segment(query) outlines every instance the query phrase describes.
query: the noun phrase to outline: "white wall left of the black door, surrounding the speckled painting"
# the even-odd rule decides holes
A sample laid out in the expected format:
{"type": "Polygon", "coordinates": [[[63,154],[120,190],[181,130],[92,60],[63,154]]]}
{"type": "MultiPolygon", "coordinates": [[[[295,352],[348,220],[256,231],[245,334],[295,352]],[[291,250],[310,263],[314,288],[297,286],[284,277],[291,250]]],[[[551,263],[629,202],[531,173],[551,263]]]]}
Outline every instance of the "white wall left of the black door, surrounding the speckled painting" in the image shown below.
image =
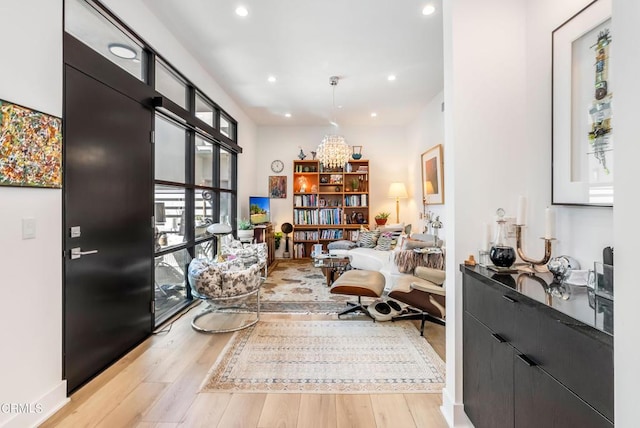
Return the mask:
{"type": "MultiPolygon", "coordinates": [[[[62,2],[4,4],[0,26],[15,36],[3,43],[0,98],[62,116],[62,2]]],[[[0,426],[34,425],[66,401],[61,205],[60,190],[0,187],[0,426]],[[36,219],[35,239],[22,240],[26,217],[36,219]]]]}

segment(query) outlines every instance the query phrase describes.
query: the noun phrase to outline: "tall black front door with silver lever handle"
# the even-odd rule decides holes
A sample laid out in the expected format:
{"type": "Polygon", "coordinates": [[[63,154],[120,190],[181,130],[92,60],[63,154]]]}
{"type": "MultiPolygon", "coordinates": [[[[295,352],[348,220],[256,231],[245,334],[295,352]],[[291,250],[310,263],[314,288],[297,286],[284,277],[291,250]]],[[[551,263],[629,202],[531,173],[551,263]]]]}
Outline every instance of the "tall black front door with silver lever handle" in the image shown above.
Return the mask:
{"type": "Polygon", "coordinates": [[[69,65],[64,110],[64,373],[72,392],[151,332],[153,113],[69,65]],[[85,254],[74,258],[73,249],[85,254]]]}

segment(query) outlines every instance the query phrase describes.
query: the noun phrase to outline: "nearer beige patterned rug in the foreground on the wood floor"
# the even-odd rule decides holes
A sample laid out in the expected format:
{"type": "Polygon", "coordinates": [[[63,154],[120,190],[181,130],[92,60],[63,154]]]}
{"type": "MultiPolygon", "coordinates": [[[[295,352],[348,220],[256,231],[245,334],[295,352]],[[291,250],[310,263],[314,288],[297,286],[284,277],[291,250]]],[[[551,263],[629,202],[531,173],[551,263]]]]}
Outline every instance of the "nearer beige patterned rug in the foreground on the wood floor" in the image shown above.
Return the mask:
{"type": "Polygon", "coordinates": [[[236,332],[202,392],[441,392],[445,364],[407,321],[260,321],[236,332]]]}

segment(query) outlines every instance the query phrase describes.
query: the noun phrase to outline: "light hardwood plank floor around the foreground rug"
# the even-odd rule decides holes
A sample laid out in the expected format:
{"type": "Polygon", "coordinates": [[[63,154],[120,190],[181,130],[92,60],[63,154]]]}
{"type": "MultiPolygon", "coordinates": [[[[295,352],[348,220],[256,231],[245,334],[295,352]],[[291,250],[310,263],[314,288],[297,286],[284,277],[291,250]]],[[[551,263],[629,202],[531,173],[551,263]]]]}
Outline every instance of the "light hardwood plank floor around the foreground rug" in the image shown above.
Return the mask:
{"type": "MultiPolygon", "coordinates": [[[[191,328],[195,308],[168,333],[147,339],[93,381],[43,427],[446,427],[440,394],[199,393],[232,333],[191,328]]],[[[262,319],[335,315],[262,314],[262,319]]],[[[166,328],[166,327],[165,327],[166,328]]],[[[444,359],[444,327],[425,337],[444,359]]]]}

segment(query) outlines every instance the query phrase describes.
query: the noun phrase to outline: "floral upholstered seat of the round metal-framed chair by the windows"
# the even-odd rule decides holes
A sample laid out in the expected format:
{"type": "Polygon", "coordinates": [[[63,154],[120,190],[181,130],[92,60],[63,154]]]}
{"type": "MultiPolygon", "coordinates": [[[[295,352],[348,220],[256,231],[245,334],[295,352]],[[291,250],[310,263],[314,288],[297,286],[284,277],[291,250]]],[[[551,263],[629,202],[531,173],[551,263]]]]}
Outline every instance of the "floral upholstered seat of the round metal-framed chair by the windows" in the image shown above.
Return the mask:
{"type": "Polygon", "coordinates": [[[260,288],[261,270],[259,264],[246,268],[240,258],[223,263],[193,259],[189,263],[188,278],[194,296],[220,299],[247,294],[260,288]]]}

